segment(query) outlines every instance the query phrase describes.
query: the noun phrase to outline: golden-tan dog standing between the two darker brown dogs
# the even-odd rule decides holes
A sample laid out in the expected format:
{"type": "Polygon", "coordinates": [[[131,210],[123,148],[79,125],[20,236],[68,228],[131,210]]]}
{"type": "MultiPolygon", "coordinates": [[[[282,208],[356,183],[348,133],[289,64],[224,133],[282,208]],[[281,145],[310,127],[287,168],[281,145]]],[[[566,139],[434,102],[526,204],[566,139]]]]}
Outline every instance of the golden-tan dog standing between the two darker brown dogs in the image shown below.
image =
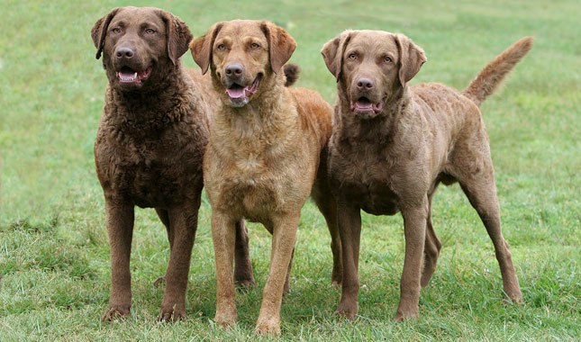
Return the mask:
{"type": "Polygon", "coordinates": [[[236,321],[231,282],[234,222],[258,221],[273,235],[270,271],[256,331],[280,333],[280,305],[304,202],[313,200],[331,231],[332,281],[339,284],[340,239],[327,184],[331,106],[312,90],[288,88],[283,65],[295,40],[264,21],[216,23],[190,49],[211,69],[221,108],[211,123],[204,182],[212,204],[216,323],[236,321]]]}

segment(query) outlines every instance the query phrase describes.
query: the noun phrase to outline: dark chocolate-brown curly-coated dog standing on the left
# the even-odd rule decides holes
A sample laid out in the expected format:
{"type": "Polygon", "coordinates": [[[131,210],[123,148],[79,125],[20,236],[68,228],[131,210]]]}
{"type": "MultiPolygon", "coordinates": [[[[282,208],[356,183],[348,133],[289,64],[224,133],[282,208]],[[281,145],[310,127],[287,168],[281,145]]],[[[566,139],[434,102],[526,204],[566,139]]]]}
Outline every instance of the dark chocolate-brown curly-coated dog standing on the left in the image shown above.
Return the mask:
{"type": "MultiPolygon", "coordinates": [[[[153,207],[168,232],[170,256],[159,320],[185,316],[186,284],[203,187],[208,115],[215,109],[209,77],[181,67],[192,35],[158,8],[115,8],[91,31],[109,85],[95,142],[111,245],[112,285],[103,320],[132,305],[133,208],[153,207]],[[204,85],[204,83],[206,85],[204,85]]],[[[236,278],[254,284],[248,237],[236,224],[236,278]]]]}

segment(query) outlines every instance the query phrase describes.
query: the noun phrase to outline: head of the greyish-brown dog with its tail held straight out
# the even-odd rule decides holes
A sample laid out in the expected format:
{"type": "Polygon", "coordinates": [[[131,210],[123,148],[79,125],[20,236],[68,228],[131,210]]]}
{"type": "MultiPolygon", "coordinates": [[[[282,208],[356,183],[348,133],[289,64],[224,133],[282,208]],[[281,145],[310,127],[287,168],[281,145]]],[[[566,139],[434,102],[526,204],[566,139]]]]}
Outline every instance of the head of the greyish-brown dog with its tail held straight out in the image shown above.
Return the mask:
{"type": "Polygon", "coordinates": [[[386,31],[344,31],[325,43],[321,53],[350,111],[361,119],[381,115],[426,61],[412,40],[386,31]]]}

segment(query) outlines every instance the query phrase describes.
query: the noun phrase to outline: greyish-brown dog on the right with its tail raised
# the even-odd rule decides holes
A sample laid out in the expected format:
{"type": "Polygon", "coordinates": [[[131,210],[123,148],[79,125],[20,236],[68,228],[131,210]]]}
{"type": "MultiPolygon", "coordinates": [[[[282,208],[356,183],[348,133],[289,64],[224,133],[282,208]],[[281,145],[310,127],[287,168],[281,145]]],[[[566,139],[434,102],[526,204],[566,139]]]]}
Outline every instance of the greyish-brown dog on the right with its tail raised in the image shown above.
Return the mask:
{"type": "Polygon", "coordinates": [[[418,315],[420,287],[440,253],[431,199],[440,183],[457,182],[495,246],[504,292],[522,302],[508,243],[500,229],[488,137],[478,105],[531,49],[517,41],[467,89],[435,83],[408,86],[426,61],[402,34],[344,31],[322,48],[337,78],[338,103],[329,147],[331,189],[338,201],[343,283],[338,312],[358,312],[360,210],[404,217],[405,257],[395,320],[418,315]]]}

